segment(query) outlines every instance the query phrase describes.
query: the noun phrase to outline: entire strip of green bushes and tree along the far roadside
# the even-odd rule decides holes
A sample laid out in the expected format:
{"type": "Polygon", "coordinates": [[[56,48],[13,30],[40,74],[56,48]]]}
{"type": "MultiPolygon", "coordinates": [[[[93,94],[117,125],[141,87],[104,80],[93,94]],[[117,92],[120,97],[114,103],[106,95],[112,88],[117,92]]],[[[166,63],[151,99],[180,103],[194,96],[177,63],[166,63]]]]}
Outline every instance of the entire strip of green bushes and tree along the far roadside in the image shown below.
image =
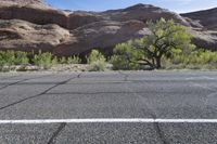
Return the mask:
{"type": "MultiPolygon", "coordinates": [[[[217,68],[217,52],[199,49],[192,44],[191,35],[184,26],[164,18],[156,23],[149,22],[148,26],[151,35],[116,44],[108,61],[114,70],[217,68]]],[[[86,60],[89,70],[102,71],[110,66],[105,56],[98,50],[92,50],[86,60]]],[[[42,51],[0,51],[1,71],[13,70],[14,66],[25,70],[27,65],[36,66],[37,69],[49,69],[56,64],[81,64],[81,58],[77,55],[56,57],[42,51]]]]}

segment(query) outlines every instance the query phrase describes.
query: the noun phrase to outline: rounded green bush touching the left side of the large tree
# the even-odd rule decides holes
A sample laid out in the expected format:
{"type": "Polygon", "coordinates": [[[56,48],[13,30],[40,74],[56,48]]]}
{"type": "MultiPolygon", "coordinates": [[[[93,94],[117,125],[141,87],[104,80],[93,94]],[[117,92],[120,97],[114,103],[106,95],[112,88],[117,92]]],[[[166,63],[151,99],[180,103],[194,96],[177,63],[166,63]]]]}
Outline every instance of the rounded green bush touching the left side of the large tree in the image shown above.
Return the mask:
{"type": "Polygon", "coordinates": [[[139,60],[143,57],[141,50],[136,49],[132,41],[119,43],[113,50],[114,55],[111,57],[113,69],[130,70],[139,69],[139,60]]]}

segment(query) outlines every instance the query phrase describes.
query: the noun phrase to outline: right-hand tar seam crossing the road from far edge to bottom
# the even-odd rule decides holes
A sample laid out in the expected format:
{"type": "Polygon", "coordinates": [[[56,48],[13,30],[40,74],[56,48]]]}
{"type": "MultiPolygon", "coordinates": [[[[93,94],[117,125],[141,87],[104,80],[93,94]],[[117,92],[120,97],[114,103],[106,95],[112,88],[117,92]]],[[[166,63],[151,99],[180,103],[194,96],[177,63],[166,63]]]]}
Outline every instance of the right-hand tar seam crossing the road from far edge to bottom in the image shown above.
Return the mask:
{"type": "MultiPolygon", "coordinates": [[[[122,71],[119,71],[119,74],[125,76],[125,81],[128,80],[128,77],[129,77],[129,76],[128,76],[127,74],[124,74],[124,73],[122,73],[122,71]]],[[[131,93],[132,93],[132,94],[135,94],[136,96],[139,96],[139,97],[143,101],[144,97],[141,96],[141,95],[139,95],[139,94],[138,94],[137,92],[135,92],[132,89],[130,89],[129,87],[126,87],[126,89],[131,90],[131,93]]],[[[153,108],[150,108],[150,106],[146,104],[146,102],[145,102],[144,104],[146,105],[146,107],[148,107],[148,109],[149,109],[150,115],[152,116],[152,118],[153,118],[153,119],[156,119],[156,114],[155,114],[155,112],[153,110],[153,108]]],[[[156,134],[157,134],[158,138],[161,139],[162,143],[163,143],[163,144],[168,144],[168,142],[167,142],[165,135],[164,135],[164,132],[163,132],[163,131],[161,130],[161,128],[159,128],[159,123],[158,123],[158,122],[154,122],[153,125],[154,125],[154,129],[155,129],[155,131],[156,131],[156,134]]]]}

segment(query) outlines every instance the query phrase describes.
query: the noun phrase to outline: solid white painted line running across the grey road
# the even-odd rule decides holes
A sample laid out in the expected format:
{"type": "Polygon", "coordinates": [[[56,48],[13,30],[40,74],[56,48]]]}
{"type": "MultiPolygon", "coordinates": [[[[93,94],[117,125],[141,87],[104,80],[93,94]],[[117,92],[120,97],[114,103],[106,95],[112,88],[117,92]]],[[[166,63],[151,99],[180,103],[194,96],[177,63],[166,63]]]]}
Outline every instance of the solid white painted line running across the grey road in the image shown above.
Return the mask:
{"type": "Polygon", "coordinates": [[[0,125],[7,123],[217,123],[217,119],[152,119],[152,118],[131,118],[131,119],[33,119],[33,120],[0,120],[0,125]]]}

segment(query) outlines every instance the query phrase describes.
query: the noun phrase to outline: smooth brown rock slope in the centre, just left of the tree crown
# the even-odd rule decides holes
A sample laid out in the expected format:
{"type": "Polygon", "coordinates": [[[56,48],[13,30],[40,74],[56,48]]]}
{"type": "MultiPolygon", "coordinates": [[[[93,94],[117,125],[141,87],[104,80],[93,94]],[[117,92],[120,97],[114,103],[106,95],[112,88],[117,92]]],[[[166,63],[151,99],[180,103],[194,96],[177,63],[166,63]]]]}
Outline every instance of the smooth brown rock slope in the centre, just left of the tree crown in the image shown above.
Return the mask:
{"type": "Polygon", "coordinates": [[[71,55],[85,53],[92,48],[106,49],[115,43],[149,35],[144,23],[140,21],[113,22],[102,21],[91,23],[71,31],[71,41],[59,44],[53,53],[71,55]]]}

